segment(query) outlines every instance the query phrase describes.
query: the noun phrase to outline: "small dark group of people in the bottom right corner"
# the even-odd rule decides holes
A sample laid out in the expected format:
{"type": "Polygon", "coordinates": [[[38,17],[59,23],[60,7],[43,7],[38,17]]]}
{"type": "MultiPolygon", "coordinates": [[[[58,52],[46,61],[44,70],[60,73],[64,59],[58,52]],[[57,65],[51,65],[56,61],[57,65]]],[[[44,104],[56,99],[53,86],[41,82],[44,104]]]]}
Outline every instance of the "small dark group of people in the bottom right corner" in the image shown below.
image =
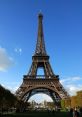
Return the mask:
{"type": "Polygon", "coordinates": [[[82,108],[79,108],[79,107],[71,108],[70,114],[71,114],[72,117],[81,117],[82,108]]]}

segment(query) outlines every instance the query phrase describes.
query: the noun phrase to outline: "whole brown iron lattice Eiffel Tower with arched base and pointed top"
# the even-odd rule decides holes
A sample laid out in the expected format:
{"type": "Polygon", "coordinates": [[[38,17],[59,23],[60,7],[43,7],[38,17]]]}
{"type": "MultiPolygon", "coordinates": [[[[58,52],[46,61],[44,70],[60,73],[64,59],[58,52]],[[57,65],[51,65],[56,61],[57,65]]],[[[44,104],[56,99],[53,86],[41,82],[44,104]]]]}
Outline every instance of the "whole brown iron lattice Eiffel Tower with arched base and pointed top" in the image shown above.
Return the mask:
{"type": "Polygon", "coordinates": [[[16,91],[16,96],[23,101],[28,101],[37,93],[45,93],[56,103],[61,99],[67,99],[68,93],[59,82],[59,75],[55,75],[47,55],[44,34],[43,15],[38,15],[38,36],[35,53],[32,56],[32,65],[27,75],[24,75],[21,86],[16,91]],[[39,68],[44,70],[44,75],[37,75],[39,68]]]}

